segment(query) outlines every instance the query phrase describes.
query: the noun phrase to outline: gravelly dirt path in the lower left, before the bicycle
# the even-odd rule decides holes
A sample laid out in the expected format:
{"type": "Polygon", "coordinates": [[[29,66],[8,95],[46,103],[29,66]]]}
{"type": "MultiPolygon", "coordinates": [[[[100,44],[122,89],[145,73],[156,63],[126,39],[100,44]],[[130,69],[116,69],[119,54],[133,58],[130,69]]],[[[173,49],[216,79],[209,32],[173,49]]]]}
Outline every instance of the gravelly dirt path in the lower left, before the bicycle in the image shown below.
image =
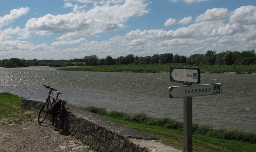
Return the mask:
{"type": "Polygon", "coordinates": [[[64,131],[55,131],[45,120],[0,125],[0,152],[95,152],[64,131]]]}

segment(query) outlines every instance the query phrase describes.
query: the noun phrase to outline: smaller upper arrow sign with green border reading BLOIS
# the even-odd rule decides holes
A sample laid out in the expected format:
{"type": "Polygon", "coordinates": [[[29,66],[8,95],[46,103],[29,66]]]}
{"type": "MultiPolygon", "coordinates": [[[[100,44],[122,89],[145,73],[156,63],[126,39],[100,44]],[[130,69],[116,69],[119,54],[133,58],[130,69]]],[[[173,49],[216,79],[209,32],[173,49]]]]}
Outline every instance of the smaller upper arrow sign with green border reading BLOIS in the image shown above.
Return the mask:
{"type": "Polygon", "coordinates": [[[200,83],[200,69],[195,67],[171,67],[170,81],[180,83],[200,83]]]}

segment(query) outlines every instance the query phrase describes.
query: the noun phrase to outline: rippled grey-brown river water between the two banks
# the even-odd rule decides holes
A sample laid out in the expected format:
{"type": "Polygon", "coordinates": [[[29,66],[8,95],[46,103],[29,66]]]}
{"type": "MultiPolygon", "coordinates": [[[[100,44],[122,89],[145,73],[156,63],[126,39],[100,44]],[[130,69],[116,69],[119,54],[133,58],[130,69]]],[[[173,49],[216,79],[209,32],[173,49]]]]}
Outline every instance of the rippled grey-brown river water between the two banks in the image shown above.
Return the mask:
{"type": "MultiPolygon", "coordinates": [[[[193,122],[256,133],[256,74],[201,74],[200,84],[221,83],[222,94],[192,97],[193,122]]],[[[53,67],[0,67],[0,92],[45,100],[50,85],[77,106],[143,112],[183,121],[183,98],[169,98],[169,73],[60,71],[53,67]]]]}

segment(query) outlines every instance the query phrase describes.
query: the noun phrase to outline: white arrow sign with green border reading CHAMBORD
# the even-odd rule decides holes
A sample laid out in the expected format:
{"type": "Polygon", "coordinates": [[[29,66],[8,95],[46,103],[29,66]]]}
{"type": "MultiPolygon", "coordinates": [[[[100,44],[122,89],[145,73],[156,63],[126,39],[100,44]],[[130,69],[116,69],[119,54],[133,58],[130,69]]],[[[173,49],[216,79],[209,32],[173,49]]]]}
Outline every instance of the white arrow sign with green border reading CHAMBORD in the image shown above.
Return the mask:
{"type": "Polygon", "coordinates": [[[206,96],[222,93],[222,84],[207,85],[182,85],[169,87],[170,98],[180,98],[188,96],[206,96]]]}

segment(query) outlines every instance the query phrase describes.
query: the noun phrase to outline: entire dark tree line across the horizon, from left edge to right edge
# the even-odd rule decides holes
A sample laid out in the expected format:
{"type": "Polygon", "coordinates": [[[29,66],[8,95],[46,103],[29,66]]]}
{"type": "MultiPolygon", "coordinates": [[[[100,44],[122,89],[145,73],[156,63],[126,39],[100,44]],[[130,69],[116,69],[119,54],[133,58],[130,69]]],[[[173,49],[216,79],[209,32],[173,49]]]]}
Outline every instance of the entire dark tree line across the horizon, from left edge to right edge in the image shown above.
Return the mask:
{"type": "Polygon", "coordinates": [[[128,65],[128,64],[165,64],[165,63],[186,63],[188,65],[255,65],[256,54],[254,49],[252,51],[232,52],[223,51],[216,53],[208,50],[205,54],[194,54],[192,56],[180,56],[172,53],[154,54],[153,56],[119,56],[116,59],[111,56],[99,59],[96,55],[84,56],[81,59],[69,60],[25,60],[25,59],[3,59],[0,61],[0,67],[26,67],[26,66],[50,66],[50,67],[64,67],[64,66],[102,66],[102,65],[128,65]]]}

